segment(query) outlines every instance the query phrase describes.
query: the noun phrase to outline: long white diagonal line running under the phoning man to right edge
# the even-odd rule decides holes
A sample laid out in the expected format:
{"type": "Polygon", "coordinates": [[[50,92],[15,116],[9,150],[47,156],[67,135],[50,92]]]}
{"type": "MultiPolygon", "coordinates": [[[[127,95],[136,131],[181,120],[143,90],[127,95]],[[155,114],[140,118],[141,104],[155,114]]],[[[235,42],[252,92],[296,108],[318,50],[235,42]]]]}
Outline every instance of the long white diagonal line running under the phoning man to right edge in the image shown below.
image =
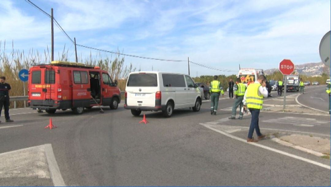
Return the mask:
{"type": "Polygon", "coordinates": [[[269,150],[269,151],[273,151],[273,152],[276,152],[276,153],[279,153],[279,154],[282,154],[282,155],[285,155],[285,156],[288,156],[288,157],[292,157],[292,158],[295,158],[295,159],[298,159],[298,160],[301,160],[301,161],[304,161],[304,162],[307,162],[307,163],[310,163],[310,164],[314,164],[316,166],[319,166],[319,167],[322,167],[322,168],[326,168],[326,169],[331,170],[331,167],[328,166],[328,165],[325,165],[325,164],[322,164],[322,163],[319,163],[319,162],[315,162],[313,160],[309,160],[309,159],[306,159],[306,158],[303,158],[303,157],[300,157],[300,156],[297,156],[297,155],[293,155],[293,154],[287,153],[285,151],[274,149],[274,148],[271,148],[271,147],[268,147],[268,146],[265,146],[265,145],[261,145],[261,144],[258,144],[258,143],[254,143],[254,142],[248,143],[247,140],[245,140],[245,139],[242,139],[242,138],[239,138],[237,136],[231,135],[229,133],[226,133],[226,132],[217,130],[217,129],[211,127],[208,124],[201,124],[201,125],[203,125],[204,127],[208,128],[208,129],[211,129],[213,131],[216,131],[218,133],[221,133],[221,134],[223,134],[225,136],[228,136],[230,138],[236,139],[238,141],[241,141],[241,142],[244,142],[244,143],[247,143],[247,144],[251,144],[251,145],[254,145],[254,146],[257,146],[257,147],[260,147],[260,148],[269,150]]]}

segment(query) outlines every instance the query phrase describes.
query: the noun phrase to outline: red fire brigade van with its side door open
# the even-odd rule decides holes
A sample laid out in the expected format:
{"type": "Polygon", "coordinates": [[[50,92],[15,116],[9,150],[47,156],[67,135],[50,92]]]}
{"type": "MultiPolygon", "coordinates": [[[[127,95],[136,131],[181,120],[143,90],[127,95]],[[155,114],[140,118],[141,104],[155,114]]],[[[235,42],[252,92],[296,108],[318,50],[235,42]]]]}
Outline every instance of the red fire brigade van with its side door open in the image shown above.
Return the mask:
{"type": "Polygon", "coordinates": [[[29,107],[49,114],[57,109],[82,114],[84,107],[98,104],[117,109],[121,100],[117,81],[107,71],[80,63],[52,61],[32,66],[28,83],[29,107]]]}

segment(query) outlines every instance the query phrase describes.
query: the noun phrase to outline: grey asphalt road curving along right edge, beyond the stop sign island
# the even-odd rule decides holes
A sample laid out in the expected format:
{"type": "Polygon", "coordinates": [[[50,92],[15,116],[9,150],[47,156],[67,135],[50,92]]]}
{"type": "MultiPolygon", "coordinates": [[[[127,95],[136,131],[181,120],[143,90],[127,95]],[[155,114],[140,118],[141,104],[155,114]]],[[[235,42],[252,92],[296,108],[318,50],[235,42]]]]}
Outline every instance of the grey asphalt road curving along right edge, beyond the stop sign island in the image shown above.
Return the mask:
{"type": "Polygon", "coordinates": [[[306,106],[328,112],[329,96],[325,92],[326,85],[310,86],[305,94],[298,97],[298,101],[306,106]]]}

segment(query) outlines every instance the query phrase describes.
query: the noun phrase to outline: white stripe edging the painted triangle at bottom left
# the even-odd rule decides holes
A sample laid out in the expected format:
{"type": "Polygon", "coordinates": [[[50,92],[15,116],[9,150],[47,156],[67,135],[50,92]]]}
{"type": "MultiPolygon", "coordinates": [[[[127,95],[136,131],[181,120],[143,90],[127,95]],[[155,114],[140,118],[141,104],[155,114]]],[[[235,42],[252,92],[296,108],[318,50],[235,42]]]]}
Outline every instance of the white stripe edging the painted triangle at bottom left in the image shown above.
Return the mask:
{"type": "Polygon", "coordinates": [[[53,180],[54,186],[66,186],[62,178],[60,168],[55,160],[53,148],[51,144],[45,144],[45,153],[48,162],[49,171],[53,180]]]}

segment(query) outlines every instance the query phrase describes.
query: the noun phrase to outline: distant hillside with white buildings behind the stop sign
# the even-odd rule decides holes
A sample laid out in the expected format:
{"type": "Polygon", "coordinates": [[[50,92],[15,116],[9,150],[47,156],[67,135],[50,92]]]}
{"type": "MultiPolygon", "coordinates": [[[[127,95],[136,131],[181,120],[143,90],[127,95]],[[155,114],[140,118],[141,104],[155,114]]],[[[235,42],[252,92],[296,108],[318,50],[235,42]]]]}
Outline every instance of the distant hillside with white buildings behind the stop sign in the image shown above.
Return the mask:
{"type": "MultiPolygon", "coordinates": [[[[325,66],[323,62],[300,64],[296,65],[294,68],[299,75],[301,74],[307,76],[318,76],[321,75],[323,72],[330,75],[330,68],[325,66]]],[[[275,71],[278,71],[278,69],[267,69],[264,70],[264,74],[270,75],[275,71]]]]}

